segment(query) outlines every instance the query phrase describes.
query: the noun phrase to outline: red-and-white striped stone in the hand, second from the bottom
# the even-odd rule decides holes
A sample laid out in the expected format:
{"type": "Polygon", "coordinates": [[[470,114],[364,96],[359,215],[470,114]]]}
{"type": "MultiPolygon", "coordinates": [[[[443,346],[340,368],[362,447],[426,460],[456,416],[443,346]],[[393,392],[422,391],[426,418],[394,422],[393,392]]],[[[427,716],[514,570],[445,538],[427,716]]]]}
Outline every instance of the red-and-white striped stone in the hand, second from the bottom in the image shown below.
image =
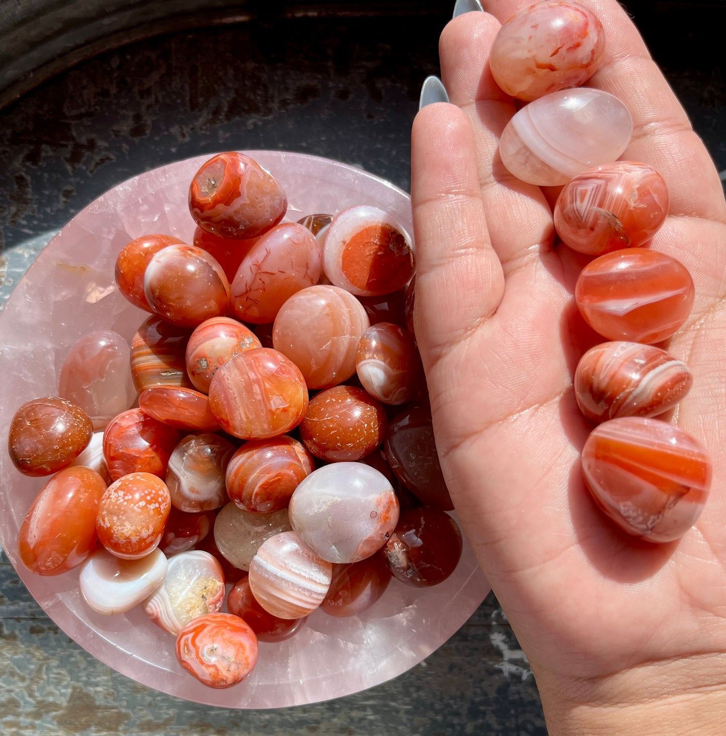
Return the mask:
{"type": "Polygon", "coordinates": [[[574,376],[575,398],[593,422],[655,417],[691,389],[693,374],[665,350],[638,342],[604,342],[582,355],[574,376]]]}

